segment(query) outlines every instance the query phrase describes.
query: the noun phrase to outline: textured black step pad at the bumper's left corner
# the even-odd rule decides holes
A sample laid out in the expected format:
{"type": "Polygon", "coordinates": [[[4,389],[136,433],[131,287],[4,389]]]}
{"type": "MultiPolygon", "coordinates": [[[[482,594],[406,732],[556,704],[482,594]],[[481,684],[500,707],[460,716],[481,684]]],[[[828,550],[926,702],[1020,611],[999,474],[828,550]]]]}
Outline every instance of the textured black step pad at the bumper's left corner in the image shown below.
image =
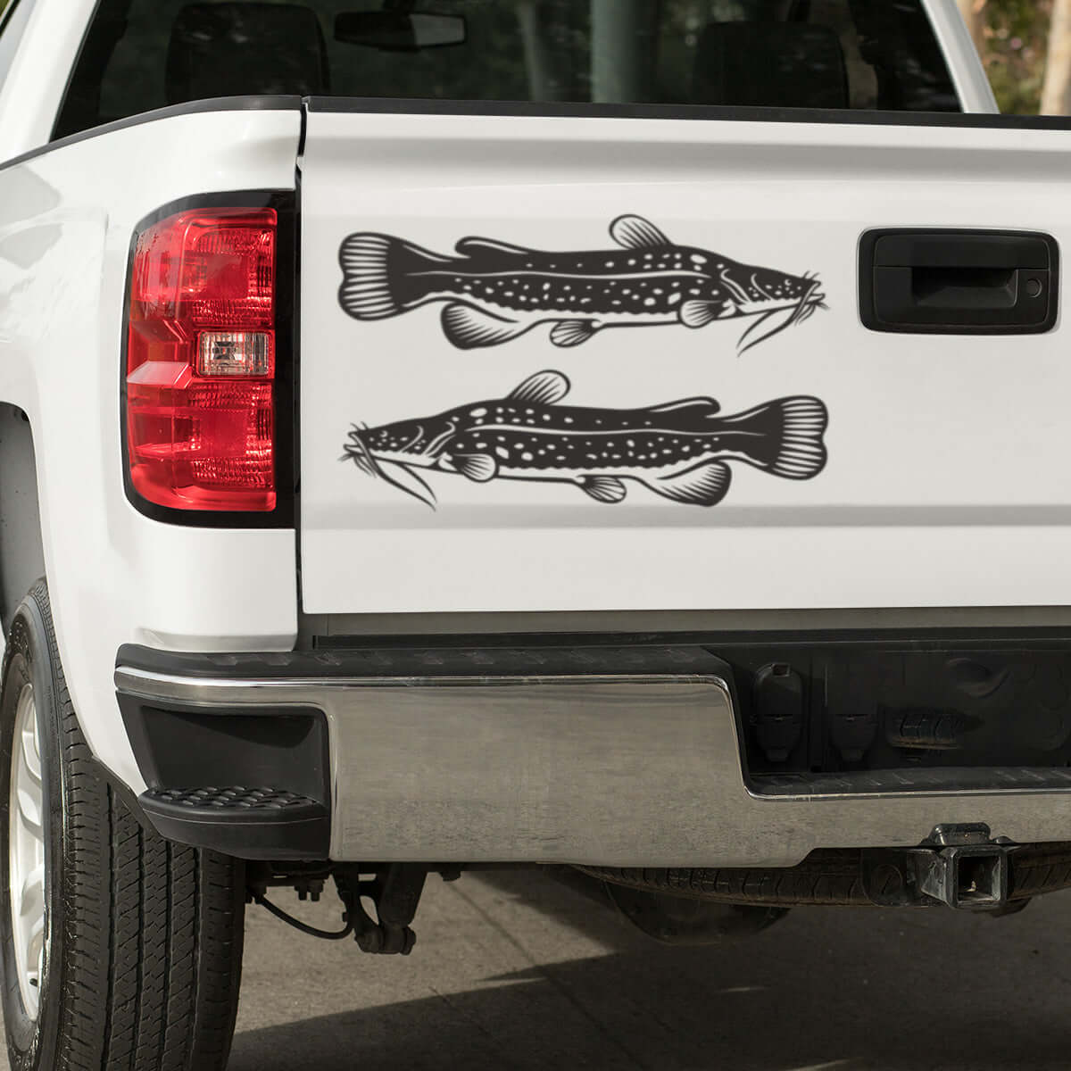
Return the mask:
{"type": "Polygon", "coordinates": [[[139,797],[170,840],[242,859],[327,858],[328,809],[282,788],[150,788],[139,797]]]}

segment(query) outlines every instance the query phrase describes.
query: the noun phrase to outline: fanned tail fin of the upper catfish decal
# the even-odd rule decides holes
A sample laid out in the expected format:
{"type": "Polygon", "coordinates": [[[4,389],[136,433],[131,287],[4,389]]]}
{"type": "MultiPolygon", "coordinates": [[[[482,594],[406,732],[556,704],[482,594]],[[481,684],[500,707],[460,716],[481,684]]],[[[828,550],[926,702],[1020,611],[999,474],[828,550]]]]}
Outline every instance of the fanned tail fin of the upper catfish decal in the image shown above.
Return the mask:
{"type": "Polygon", "coordinates": [[[390,235],[350,235],[338,254],[343,270],[338,301],[357,320],[397,316],[406,311],[398,291],[407,274],[447,259],[390,235]]]}

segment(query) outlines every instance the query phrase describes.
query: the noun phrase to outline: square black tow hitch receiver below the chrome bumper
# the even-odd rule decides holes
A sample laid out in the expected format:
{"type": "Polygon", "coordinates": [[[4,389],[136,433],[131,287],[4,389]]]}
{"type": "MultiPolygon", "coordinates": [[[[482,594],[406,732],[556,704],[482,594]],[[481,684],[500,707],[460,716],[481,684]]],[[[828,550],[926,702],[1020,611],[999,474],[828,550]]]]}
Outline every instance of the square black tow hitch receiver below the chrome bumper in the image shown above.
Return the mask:
{"type": "Polygon", "coordinates": [[[908,853],[923,895],[962,911],[992,911],[1007,905],[1015,844],[993,838],[981,823],[937,826],[925,844],[908,853]]]}

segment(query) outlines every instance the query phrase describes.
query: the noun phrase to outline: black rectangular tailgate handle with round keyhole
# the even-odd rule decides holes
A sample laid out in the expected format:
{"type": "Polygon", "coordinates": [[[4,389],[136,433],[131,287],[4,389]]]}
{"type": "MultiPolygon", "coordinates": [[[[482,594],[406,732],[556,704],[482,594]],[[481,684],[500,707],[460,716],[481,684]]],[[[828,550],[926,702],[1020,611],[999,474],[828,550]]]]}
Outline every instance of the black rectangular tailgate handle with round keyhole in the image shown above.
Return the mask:
{"type": "Polygon", "coordinates": [[[1059,246],[1012,230],[871,230],[859,312],[872,331],[1039,334],[1056,323],[1059,246]]]}

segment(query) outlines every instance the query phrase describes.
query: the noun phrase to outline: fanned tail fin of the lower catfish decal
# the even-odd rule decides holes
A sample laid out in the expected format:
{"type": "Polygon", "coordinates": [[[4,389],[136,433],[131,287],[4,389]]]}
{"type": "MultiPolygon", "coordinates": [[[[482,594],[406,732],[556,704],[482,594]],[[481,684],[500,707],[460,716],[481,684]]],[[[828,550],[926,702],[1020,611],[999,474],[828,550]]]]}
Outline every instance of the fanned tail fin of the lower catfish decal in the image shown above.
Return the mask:
{"type": "Polygon", "coordinates": [[[733,432],[744,432],[742,449],[758,468],[785,480],[811,480],[826,467],[826,428],[829,411],[815,397],[779,398],[725,421],[733,432]]]}

